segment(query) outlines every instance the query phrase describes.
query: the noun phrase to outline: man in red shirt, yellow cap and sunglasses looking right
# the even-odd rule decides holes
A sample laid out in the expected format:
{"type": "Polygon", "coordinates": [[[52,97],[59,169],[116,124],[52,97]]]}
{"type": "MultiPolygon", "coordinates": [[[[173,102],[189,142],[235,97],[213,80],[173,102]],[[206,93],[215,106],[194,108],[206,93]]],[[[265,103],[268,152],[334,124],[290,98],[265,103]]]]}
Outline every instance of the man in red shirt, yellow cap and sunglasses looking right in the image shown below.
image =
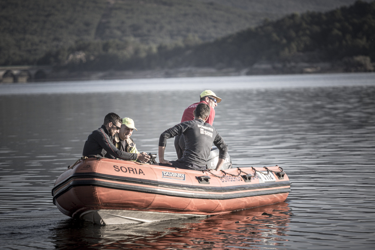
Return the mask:
{"type": "MultiPolygon", "coordinates": [[[[210,115],[208,116],[206,123],[212,126],[213,120],[215,118],[214,108],[217,106],[217,103],[221,102],[221,98],[217,97],[216,94],[213,93],[211,90],[203,91],[199,97],[200,97],[200,102],[193,103],[192,105],[188,106],[184,110],[184,113],[181,118],[181,123],[184,121],[194,120],[193,111],[195,110],[196,106],[199,103],[205,103],[208,106],[210,106],[210,115]]],[[[183,135],[175,137],[174,147],[176,149],[177,158],[181,159],[181,157],[183,156],[183,151],[185,150],[185,139],[183,135]]]]}

